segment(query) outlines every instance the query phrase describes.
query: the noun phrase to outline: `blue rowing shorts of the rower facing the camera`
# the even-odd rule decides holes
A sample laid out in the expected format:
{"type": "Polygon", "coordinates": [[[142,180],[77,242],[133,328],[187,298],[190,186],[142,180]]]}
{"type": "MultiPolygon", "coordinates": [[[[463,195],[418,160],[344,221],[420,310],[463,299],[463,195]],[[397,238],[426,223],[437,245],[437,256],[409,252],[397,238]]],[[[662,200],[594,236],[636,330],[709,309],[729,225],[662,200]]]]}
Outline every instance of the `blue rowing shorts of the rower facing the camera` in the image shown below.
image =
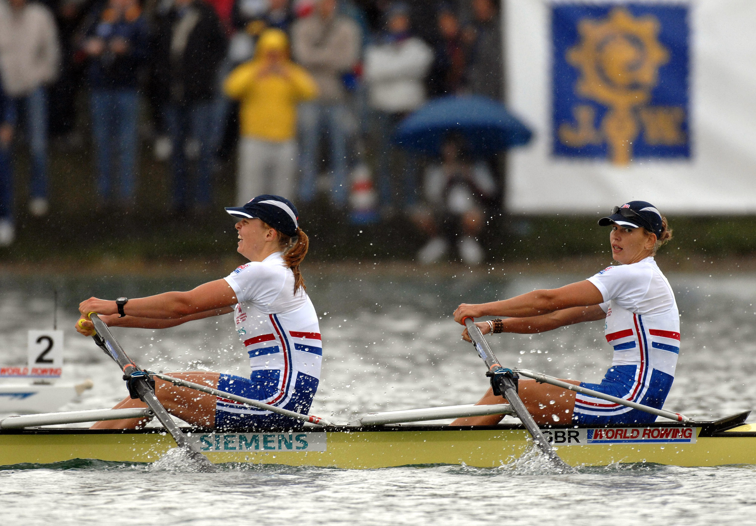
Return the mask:
{"type": "MultiPolygon", "coordinates": [[[[662,409],[672,387],[671,375],[652,369],[648,383],[639,382],[634,365],[613,365],[606,371],[600,384],[581,382],[581,387],[599,391],[624,400],[634,401],[655,409],[662,409]]],[[[572,422],[579,425],[649,424],[656,415],[614,404],[590,395],[575,396],[572,422]]]]}

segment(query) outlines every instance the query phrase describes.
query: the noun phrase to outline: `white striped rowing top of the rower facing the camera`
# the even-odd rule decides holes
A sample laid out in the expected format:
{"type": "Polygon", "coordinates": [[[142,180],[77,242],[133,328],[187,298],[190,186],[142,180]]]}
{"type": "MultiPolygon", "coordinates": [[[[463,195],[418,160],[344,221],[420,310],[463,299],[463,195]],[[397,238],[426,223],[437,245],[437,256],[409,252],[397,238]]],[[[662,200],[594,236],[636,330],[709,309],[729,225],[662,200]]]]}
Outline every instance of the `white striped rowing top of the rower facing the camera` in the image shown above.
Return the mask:
{"type": "MultiPolygon", "coordinates": [[[[680,353],[680,314],[667,278],[648,257],[605,268],[588,281],[603,296],[604,333],[614,348],[606,380],[627,386],[618,393],[626,400],[641,403],[661,396],[663,402],[680,353]]],[[[586,395],[575,399],[577,413],[609,416],[630,410],[586,395]]]]}

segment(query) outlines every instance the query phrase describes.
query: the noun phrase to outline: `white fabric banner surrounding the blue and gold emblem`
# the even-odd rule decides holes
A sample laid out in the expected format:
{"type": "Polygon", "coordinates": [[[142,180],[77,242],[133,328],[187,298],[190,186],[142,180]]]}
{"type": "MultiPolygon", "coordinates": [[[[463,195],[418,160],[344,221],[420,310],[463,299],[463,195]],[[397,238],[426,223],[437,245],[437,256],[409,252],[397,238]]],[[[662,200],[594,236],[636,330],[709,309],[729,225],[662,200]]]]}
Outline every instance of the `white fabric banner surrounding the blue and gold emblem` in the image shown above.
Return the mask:
{"type": "MultiPolygon", "coordinates": [[[[634,3],[639,4],[681,5],[634,3]]],[[[689,157],[633,159],[627,166],[609,155],[553,153],[551,17],[559,5],[580,3],[504,3],[507,106],[534,131],[531,144],[508,156],[507,209],[598,215],[629,200],[646,200],[665,214],[756,213],[756,2],[683,4],[688,9],[689,157]]]]}

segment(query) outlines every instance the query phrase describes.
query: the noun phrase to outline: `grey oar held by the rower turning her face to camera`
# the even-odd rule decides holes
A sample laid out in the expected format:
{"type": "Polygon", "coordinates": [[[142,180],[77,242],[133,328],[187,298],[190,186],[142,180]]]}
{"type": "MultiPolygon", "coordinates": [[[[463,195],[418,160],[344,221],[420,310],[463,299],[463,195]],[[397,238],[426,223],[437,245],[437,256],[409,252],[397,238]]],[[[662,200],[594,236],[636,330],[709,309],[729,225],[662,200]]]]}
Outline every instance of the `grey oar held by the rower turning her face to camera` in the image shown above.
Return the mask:
{"type": "Polygon", "coordinates": [[[497,360],[494,352],[491,351],[491,348],[488,347],[488,342],[483,338],[483,334],[480,332],[472,317],[464,317],[462,321],[467,327],[467,333],[469,334],[470,339],[472,339],[472,345],[475,345],[478,355],[485,362],[485,366],[488,367],[488,373],[485,374],[486,376],[491,377],[491,388],[494,390],[494,394],[507,398],[507,401],[512,406],[512,409],[520,419],[520,422],[522,422],[522,425],[525,425],[525,429],[527,429],[531,437],[533,437],[534,444],[544,452],[554,466],[563,470],[571,470],[572,468],[556,454],[554,448],[551,447],[549,441],[544,437],[544,434],[541,433],[541,429],[538,429],[538,424],[535,423],[531,414],[528,413],[525,404],[522,403],[519,395],[517,395],[517,387],[515,385],[515,377],[512,370],[501,367],[499,360],[497,360]]]}

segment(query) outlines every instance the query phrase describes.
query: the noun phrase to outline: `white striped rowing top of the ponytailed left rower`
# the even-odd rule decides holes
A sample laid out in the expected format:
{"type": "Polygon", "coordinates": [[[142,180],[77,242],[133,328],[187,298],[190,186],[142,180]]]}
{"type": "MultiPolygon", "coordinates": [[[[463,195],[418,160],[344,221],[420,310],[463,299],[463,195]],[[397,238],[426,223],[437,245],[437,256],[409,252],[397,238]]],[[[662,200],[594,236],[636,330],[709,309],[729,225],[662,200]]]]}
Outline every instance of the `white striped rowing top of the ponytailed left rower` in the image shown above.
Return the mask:
{"type": "Polygon", "coordinates": [[[249,354],[250,379],[265,387],[261,400],[309,407],[321,376],[321,330],[305,290],[294,293],[294,273],[281,252],[241,265],[225,280],[239,302],[234,322],[249,354]]]}

